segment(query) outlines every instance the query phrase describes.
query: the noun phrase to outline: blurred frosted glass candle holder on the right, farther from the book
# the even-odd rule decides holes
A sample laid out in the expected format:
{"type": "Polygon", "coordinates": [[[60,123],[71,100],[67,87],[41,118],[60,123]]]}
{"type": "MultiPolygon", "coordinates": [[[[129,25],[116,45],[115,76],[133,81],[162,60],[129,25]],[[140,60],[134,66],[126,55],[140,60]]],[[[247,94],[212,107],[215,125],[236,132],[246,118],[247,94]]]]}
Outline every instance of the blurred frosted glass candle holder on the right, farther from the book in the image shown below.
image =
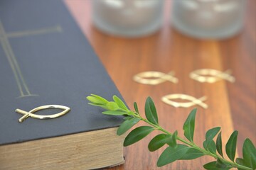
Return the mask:
{"type": "Polygon", "coordinates": [[[229,38],[240,32],[247,0],[174,0],[171,23],[196,38],[229,38]]]}

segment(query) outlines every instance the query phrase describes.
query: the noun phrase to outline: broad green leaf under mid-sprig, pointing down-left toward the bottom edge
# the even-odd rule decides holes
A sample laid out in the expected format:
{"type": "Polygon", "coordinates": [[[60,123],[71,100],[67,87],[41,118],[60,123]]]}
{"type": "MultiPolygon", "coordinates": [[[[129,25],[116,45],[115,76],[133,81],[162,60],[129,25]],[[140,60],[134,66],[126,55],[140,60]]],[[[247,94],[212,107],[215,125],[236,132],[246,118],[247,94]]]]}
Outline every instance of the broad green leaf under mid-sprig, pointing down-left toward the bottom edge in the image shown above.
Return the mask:
{"type": "Polygon", "coordinates": [[[160,155],[157,166],[164,166],[166,164],[170,164],[171,162],[175,162],[176,160],[183,157],[184,154],[188,151],[189,147],[186,145],[178,144],[177,147],[167,147],[164,152],[160,155]]]}

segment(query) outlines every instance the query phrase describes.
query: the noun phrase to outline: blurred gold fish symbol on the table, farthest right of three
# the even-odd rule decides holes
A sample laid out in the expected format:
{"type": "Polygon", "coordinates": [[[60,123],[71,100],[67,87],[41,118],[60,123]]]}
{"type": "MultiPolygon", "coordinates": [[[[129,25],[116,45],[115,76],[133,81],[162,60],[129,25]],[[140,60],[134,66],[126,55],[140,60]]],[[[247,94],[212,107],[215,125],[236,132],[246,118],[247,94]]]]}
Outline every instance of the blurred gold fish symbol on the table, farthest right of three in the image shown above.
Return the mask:
{"type": "Polygon", "coordinates": [[[230,74],[231,74],[230,70],[227,70],[225,72],[220,72],[215,69],[198,69],[191,72],[191,74],[189,74],[189,77],[201,83],[204,83],[204,82],[215,83],[220,79],[225,79],[233,83],[235,82],[235,78],[232,77],[230,74]]]}

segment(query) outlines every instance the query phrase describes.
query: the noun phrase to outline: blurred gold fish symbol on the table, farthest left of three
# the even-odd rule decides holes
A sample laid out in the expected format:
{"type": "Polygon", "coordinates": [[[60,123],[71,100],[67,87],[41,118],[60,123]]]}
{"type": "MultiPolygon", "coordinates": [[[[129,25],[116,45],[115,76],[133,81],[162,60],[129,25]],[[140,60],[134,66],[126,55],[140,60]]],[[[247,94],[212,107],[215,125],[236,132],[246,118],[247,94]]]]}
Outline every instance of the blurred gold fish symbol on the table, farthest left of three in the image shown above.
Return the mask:
{"type": "Polygon", "coordinates": [[[165,81],[171,81],[172,83],[178,83],[178,79],[174,77],[174,72],[169,72],[168,74],[162,72],[141,72],[134,76],[134,81],[141,84],[157,85],[165,81]],[[154,79],[155,78],[155,79],[154,79]]]}

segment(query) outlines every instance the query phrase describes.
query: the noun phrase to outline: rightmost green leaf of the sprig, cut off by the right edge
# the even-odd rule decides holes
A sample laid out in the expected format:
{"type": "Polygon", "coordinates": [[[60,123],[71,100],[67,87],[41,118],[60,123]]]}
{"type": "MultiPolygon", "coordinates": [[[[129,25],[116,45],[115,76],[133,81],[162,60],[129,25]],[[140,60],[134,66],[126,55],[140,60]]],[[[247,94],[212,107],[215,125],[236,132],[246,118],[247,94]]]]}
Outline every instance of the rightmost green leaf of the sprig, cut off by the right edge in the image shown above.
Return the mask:
{"type": "Polygon", "coordinates": [[[256,169],[256,149],[249,139],[246,139],[242,145],[242,157],[247,166],[256,169]]]}

